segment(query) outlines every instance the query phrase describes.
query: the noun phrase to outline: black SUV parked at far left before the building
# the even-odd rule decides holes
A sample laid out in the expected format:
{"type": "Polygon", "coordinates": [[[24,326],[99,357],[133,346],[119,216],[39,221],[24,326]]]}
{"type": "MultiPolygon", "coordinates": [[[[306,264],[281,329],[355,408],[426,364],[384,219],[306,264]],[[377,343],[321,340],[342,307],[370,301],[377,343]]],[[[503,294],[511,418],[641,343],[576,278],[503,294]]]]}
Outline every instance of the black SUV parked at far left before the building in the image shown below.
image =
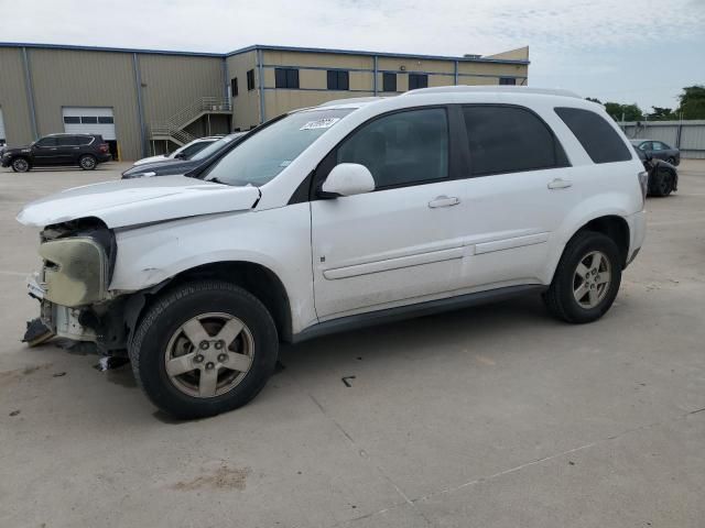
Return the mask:
{"type": "Polygon", "coordinates": [[[6,148],[2,153],[2,166],[12,167],[15,173],[61,165],[93,170],[110,160],[110,148],[98,134],[50,134],[28,146],[6,148]]]}

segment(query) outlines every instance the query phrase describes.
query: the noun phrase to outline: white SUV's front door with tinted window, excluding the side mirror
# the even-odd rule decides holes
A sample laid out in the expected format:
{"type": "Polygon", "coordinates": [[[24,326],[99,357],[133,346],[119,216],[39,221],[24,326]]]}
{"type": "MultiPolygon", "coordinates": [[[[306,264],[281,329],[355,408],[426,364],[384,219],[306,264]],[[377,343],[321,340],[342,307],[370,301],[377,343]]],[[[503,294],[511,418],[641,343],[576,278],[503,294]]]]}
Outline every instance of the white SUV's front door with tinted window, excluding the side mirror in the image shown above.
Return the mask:
{"type": "MultiPolygon", "coordinates": [[[[446,108],[386,114],[322,163],[322,173],[337,163],[365,165],[376,190],[311,205],[319,320],[410,304],[457,286],[465,182],[453,179],[448,121],[446,108]]],[[[316,174],[316,180],[326,175],[316,174]]]]}

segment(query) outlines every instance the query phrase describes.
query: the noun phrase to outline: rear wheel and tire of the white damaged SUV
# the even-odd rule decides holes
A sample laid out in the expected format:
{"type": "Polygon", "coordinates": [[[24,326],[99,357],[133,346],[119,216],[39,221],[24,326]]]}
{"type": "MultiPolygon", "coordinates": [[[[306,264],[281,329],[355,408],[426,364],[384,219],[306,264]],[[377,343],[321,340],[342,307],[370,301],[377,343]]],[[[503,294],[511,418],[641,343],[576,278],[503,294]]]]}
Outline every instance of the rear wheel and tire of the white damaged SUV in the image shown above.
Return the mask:
{"type": "Polygon", "coordinates": [[[551,287],[543,295],[549,311],[572,323],[593,322],[615,301],[621,283],[621,256],[609,237],[577,233],[566,245],[551,287]]]}

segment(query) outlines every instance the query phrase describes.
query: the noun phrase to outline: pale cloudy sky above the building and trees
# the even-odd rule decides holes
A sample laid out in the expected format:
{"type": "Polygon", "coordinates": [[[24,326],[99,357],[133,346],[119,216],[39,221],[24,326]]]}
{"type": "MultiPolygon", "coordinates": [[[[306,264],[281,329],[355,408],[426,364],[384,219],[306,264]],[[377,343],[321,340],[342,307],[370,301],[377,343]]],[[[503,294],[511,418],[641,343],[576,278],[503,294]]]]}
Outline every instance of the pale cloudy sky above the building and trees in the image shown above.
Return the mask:
{"type": "Polygon", "coordinates": [[[705,0],[0,0],[0,40],[226,52],[250,44],[492,54],[529,45],[529,84],[674,107],[705,84],[705,0]],[[61,6],[61,7],[59,7],[61,6]]]}

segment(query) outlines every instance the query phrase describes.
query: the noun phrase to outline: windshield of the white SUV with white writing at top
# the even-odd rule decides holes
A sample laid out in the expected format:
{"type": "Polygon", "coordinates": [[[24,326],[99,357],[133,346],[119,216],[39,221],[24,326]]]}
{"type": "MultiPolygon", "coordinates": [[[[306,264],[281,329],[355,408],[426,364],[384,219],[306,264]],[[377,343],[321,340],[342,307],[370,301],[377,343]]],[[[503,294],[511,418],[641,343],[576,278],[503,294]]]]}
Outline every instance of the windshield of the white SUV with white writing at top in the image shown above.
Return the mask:
{"type": "Polygon", "coordinates": [[[204,179],[235,186],[264,185],[352,110],[317,108],[291,113],[232,148],[204,179]]]}

